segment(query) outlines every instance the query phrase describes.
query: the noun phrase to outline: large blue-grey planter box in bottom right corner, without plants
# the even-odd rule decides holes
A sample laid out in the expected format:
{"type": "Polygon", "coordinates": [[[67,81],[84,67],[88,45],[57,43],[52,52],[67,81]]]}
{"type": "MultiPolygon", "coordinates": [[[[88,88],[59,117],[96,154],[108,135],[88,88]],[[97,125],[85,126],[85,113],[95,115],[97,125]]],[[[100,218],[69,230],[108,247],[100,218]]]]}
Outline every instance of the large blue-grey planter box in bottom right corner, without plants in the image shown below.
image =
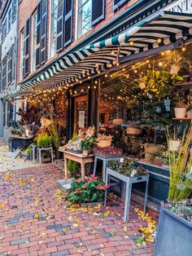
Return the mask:
{"type": "Polygon", "coordinates": [[[192,255],[192,223],[161,208],[154,256],[192,255]]]}

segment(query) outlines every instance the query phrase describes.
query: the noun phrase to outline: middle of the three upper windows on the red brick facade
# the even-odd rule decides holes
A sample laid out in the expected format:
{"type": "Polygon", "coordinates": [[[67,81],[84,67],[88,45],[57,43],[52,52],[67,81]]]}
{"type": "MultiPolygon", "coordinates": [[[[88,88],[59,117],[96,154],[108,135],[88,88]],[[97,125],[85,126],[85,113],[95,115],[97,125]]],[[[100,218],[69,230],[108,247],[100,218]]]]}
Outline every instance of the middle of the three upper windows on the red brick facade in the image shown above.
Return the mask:
{"type": "Polygon", "coordinates": [[[52,0],[50,7],[50,58],[56,54],[57,47],[57,8],[58,0],[52,0]]]}

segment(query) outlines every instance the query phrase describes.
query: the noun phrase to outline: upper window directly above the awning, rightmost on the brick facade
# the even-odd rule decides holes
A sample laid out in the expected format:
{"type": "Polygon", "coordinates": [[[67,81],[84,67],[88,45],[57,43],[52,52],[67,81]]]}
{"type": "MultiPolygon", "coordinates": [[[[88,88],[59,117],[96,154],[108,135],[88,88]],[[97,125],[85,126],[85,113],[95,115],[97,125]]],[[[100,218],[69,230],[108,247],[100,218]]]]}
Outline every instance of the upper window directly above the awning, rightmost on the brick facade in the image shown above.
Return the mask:
{"type": "Polygon", "coordinates": [[[91,0],[78,0],[77,6],[77,38],[91,29],[91,0]]]}

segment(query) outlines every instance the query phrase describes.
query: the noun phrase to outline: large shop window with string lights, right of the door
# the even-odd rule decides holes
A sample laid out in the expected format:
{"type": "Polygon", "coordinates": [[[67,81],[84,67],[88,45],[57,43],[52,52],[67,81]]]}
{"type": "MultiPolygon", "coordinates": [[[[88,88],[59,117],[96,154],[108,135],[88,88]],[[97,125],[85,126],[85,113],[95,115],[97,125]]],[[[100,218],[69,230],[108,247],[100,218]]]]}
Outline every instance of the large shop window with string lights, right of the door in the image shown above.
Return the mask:
{"type": "Polygon", "coordinates": [[[187,123],[175,120],[175,107],[188,108],[185,118],[191,118],[191,51],[192,45],[164,51],[106,74],[99,89],[100,132],[134,157],[142,157],[147,143],[166,147],[167,127],[183,131],[187,123]]]}

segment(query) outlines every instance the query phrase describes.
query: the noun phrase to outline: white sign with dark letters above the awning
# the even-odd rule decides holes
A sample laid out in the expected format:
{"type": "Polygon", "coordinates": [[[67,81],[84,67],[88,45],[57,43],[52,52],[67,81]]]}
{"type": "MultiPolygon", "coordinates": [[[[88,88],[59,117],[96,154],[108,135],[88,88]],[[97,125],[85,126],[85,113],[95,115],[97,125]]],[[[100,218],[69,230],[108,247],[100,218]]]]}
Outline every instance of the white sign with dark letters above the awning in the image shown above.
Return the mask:
{"type": "Polygon", "coordinates": [[[174,11],[192,14],[192,0],[179,0],[166,7],[164,11],[174,11]]]}

